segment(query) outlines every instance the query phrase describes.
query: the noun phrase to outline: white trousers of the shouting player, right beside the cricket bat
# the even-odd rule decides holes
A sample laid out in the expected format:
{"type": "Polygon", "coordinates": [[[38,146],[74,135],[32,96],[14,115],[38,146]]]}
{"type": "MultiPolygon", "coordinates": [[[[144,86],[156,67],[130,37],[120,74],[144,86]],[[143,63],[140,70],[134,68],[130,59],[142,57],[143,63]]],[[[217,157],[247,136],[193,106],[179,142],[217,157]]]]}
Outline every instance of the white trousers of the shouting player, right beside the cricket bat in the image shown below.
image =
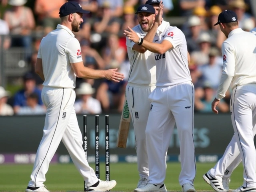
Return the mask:
{"type": "Polygon", "coordinates": [[[155,87],[155,85],[143,86],[138,84],[126,86],[126,99],[134,126],[137,166],[140,178],[148,178],[148,153],[145,132],[150,110],[148,96],[155,87]]]}

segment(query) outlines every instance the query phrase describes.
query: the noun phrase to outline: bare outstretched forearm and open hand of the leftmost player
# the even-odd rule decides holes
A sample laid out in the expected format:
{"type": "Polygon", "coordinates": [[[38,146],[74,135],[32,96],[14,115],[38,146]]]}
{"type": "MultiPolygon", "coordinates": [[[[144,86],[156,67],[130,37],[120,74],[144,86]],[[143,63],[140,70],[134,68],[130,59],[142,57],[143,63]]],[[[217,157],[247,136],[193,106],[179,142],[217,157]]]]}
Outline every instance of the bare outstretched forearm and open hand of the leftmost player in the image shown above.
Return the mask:
{"type": "Polygon", "coordinates": [[[83,62],[71,63],[71,66],[79,78],[84,79],[99,79],[106,78],[115,82],[124,80],[124,74],[117,72],[116,69],[109,70],[94,70],[92,68],[85,67],[83,62]]]}

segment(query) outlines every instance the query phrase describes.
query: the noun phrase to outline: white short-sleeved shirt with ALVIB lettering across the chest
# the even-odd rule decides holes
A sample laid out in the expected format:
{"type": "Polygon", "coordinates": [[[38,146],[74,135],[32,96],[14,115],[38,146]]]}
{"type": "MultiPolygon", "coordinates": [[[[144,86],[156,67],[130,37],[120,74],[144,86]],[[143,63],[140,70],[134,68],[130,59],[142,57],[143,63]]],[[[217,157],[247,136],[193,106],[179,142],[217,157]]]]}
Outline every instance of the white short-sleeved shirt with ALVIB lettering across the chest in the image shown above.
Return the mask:
{"type": "Polygon", "coordinates": [[[173,48],[164,54],[156,54],[156,86],[172,86],[191,81],[188,69],[188,48],[184,33],[177,27],[168,26],[158,36],[158,42],[168,40],[173,48]]]}

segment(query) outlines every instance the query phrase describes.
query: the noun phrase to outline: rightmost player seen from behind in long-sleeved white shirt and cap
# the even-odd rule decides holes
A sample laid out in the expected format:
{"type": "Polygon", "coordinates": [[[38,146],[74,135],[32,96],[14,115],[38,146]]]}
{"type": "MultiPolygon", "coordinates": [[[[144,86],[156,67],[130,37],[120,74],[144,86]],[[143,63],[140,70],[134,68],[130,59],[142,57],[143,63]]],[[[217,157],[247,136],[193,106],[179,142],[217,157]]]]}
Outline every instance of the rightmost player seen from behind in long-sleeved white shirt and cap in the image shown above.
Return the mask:
{"type": "Polygon", "coordinates": [[[231,86],[234,136],[222,158],[203,178],[214,190],[228,191],[230,175],[242,160],[244,183],[233,191],[256,192],[256,36],[239,28],[236,13],[230,10],[220,13],[218,24],[228,39],[222,44],[223,71],[212,110],[218,113],[216,106],[231,86]]]}

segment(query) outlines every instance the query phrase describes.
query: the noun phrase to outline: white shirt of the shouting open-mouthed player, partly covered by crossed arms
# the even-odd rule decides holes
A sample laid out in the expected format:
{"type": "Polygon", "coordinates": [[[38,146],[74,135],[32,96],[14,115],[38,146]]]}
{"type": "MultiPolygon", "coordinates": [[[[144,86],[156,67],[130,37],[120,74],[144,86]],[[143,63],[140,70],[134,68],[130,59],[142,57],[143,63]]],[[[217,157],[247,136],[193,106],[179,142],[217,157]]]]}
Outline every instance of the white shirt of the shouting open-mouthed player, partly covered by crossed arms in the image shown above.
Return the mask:
{"type": "MultiPolygon", "coordinates": [[[[163,20],[156,34],[162,33],[167,26],[169,26],[169,23],[163,20]]],[[[142,30],[140,25],[136,25],[132,30],[134,30],[140,38],[144,38],[147,34],[147,32],[142,30]]],[[[154,41],[157,39],[158,37],[155,35],[154,41]]],[[[126,38],[127,53],[130,61],[128,84],[156,84],[156,62],[154,53],[148,50],[144,54],[137,52],[132,49],[134,44],[133,41],[126,38]]]]}

